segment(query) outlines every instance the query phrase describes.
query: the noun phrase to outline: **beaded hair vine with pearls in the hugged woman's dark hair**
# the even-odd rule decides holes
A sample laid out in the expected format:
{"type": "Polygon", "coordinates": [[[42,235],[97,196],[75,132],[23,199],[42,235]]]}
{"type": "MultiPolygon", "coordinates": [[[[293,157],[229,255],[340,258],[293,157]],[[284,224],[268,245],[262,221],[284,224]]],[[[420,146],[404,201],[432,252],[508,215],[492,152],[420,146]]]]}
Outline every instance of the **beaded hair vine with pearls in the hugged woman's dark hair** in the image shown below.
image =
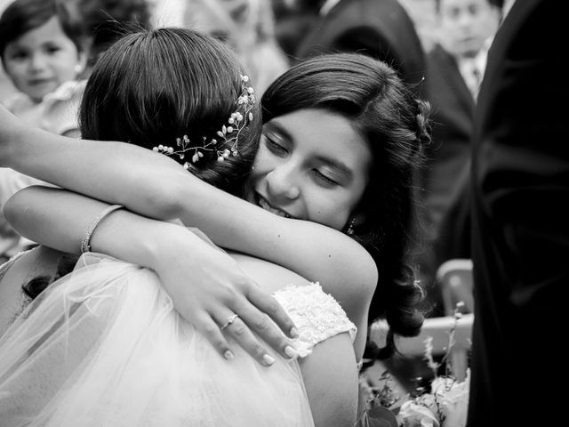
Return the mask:
{"type": "MultiPolygon", "coordinates": [[[[215,151],[218,162],[222,162],[230,155],[236,156],[239,134],[244,130],[247,123],[252,121],[251,110],[255,104],[255,95],[253,93],[254,91],[249,84],[249,77],[241,76],[241,94],[236,99],[236,110],[228,118],[228,124],[221,126],[221,130],[217,132],[220,141],[215,138],[207,141],[207,137],[204,136],[202,145],[192,146],[188,135],[184,135],[182,138],[176,138],[178,149],[161,144],[154,147],[153,150],[166,156],[179,156],[182,160],[186,157],[188,151],[193,151],[192,163],[196,163],[200,157],[204,157],[204,151],[215,151]]],[[[184,167],[188,169],[189,163],[186,162],[184,167]]]]}

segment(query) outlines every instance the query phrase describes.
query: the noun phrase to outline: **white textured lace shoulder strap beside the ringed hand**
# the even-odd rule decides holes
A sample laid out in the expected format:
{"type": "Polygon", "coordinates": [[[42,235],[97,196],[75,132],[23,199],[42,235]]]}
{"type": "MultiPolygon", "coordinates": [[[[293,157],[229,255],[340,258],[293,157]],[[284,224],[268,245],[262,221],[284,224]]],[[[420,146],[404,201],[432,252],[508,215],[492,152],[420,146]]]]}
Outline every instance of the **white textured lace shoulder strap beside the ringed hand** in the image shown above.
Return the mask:
{"type": "Polygon", "coordinates": [[[356,325],[318,283],[286,286],[276,291],[274,296],[297,326],[300,336],[293,341],[301,357],[308,356],[318,342],[343,332],[349,332],[354,341],[356,325]]]}

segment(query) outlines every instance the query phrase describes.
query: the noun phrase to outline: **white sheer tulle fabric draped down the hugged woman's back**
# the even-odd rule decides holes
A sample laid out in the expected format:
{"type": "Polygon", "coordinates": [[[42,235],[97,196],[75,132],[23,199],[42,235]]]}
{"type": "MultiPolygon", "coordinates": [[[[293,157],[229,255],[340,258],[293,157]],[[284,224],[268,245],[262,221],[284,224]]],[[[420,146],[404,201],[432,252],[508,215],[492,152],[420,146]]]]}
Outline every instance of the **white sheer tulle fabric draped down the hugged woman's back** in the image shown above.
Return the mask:
{"type": "Polygon", "coordinates": [[[298,362],[227,361],[156,275],[84,255],[0,339],[3,427],[312,426],[298,362]]]}

